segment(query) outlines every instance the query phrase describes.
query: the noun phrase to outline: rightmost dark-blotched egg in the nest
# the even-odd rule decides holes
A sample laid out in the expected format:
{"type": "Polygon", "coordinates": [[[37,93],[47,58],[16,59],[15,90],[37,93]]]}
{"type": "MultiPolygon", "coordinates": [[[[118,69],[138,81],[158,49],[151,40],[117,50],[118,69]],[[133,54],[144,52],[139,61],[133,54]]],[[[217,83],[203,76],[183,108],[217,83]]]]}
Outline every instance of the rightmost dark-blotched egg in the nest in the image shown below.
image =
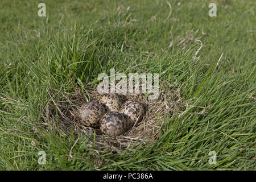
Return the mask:
{"type": "Polygon", "coordinates": [[[127,128],[132,127],[137,121],[141,121],[144,113],[142,104],[134,99],[127,100],[121,106],[119,113],[122,113],[127,120],[127,128]]]}

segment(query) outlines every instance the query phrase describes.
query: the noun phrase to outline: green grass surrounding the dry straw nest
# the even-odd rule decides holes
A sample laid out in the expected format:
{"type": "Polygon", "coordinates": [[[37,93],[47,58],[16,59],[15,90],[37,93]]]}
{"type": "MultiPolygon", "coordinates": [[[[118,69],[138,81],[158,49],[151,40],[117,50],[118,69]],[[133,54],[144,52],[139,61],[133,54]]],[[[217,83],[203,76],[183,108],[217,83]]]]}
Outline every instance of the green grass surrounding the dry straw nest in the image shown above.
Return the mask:
{"type": "Polygon", "coordinates": [[[171,1],[166,20],[170,8],[160,0],[44,1],[46,17],[40,1],[2,0],[0,169],[94,170],[102,156],[100,169],[255,170],[255,1],[215,2],[210,17],[210,1],[171,1]],[[188,108],[166,119],[158,142],[96,155],[85,135],[64,134],[44,115],[48,92],[57,101],[73,92],[71,82],[96,87],[111,68],[159,73],[180,87],[188,108]],[[42,150],[46,165],[38,164],[42,150]],[[217,164],[208,163],[210,151],[217,164]]]}

